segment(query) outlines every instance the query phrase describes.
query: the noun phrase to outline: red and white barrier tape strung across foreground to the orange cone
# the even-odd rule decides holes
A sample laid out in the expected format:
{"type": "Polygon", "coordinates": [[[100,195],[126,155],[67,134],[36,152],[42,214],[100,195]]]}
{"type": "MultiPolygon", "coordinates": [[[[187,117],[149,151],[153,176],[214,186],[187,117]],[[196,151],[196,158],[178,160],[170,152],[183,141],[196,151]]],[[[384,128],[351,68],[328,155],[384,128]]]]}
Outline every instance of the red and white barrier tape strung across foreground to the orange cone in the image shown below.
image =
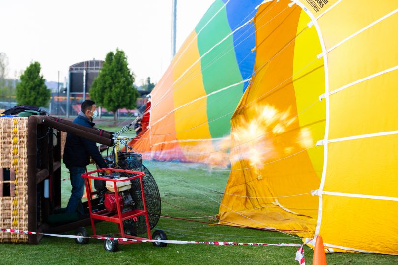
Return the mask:
{"type": "Polygon", "coordinates": [[[205,245],[216,245],[216,246],[282,246],[282,247],[299,247],[296,252],[296,260],[300,263],[300,265],[305,265],[304,262],[304,249],[301,244],[290,244],[290,243],[277,243],[277,244],[267,244],[267,243],[237,243],[237,242],[199,242],[199,241],[180,241],[180,240],[139,240],[139,239],[130,239],[130,238],[110,238],[110,237],[100,237],[100,236],[77,236],[77,235],[59,235],[59,234],[49,234],[49,233],[38,233],[32,231],[23,231],[16,229],[4,229],[0,228],[1,232],[8,233],[17,233],[17,234],[26,234],[26,235],[44,235],[50,237],[58,237],[58,238],[93,238],[100,240],[117,240],[122,242],[140,242],[140,243],[150,243],[150,242],[160,242],[160,243],[168,243],[168,244],[205,244],[205,245]]]}

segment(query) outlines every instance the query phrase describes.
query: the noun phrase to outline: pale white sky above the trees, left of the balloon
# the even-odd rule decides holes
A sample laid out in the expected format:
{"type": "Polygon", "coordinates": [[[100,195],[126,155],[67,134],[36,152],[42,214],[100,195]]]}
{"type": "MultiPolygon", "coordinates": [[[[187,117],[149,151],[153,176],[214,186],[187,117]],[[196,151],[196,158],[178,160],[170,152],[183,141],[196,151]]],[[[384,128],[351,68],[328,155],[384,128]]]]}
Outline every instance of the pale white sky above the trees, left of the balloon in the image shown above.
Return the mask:
{"type": "MultiPolygon", "coordinates": [[[[214,0],[177,0],[177,51],[214,0]]],[[[172,0],[0,0],[0,52],[8,77],[38,61],[47,81],[69,66],[122,49],[136,84],[170,63],[172,0]]]]}

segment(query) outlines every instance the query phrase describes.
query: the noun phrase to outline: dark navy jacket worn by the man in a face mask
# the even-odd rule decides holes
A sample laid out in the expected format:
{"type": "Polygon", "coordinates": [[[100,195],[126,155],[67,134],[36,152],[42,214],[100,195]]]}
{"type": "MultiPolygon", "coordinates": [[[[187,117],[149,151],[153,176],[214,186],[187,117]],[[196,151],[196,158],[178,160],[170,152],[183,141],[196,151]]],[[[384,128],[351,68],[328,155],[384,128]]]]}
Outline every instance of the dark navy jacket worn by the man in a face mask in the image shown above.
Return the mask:
{"type": "MultiPolygon", "coordinates": [[[[93,128],[95,125],[83,112],[79,112],[73,123],[89,128],[93,128]]],[[[107,167],[94,141],[68,133],[63,150],[63,163],[66,167],[85,167],[90,163],[90,156],[100,168],[107,167]]]]}

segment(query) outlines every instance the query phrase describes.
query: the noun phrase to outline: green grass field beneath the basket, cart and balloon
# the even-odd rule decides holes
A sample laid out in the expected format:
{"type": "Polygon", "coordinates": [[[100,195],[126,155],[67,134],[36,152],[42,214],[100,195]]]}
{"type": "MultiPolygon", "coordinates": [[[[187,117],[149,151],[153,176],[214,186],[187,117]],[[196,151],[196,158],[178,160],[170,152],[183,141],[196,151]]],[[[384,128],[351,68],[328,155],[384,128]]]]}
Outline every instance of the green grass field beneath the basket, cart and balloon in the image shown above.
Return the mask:
{"type": "MultiPolygon", "coordinates": [[[[162,215],[214,222],[213,217],[218,213],[218,203],[228,180],[228,171],[209,171],[205,165],[197,164],[151,161],[144,164],[159,187],[163,201],[162,215]]],[[[94,166],[90,165],[88,170],[94,170],[94,166]]],[[[68,170],[63,165],[62,178],[68,177],[68,170]]],[[[70,189],[70,182],[63,181],[63,207],[68,202],[70,189]]],[[[96,228],[99,234],[117,233],[117,226],[113,223],[102,222],[96,228]]],[[[160,218],[156,228],[164,230],[171,240],[301,244],[300,239],[278,232],[208,225],[170,218],[160,218]]],[[[89,234],[92,232],[90,227],[87,227],[87,230],[89,234]]],[[[74,234],[74,231],[65,234],[74,234]]],[[[119,245],[119,251],[111,253],[104,250],[102,240],[90,239],[88,244],[78,245],[74,239],[44,237],[38,245],[0,245],[0,264],[297,265],[298,262],[294,260],[296,251],[297,247],[169,244],[166,248],[157,248],[151,243],[139,243],[119,245]]],[[[306,263],[312,264],[313,250],[305,247],[305,255],[306,263]]],[[[398,256],[335,253],[327,255],[327,261],[328,264],[339,265],[398,264],[398,256]]]]}

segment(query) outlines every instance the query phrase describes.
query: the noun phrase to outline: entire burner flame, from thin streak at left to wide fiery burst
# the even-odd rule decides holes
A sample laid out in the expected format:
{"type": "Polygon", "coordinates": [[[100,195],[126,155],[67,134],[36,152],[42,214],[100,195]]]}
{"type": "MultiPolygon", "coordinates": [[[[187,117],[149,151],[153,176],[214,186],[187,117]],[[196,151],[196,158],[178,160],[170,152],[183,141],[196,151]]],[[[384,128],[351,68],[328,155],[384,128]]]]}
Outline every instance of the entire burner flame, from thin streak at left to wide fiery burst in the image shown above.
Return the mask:
{"type": "Polygon", "coordinates": [[[253,168],[261,179],[260,170],[268,162],[313,145],[310,129],[299,127],[291,107],[281,111],[271,105],[252,106],[232,123],[231,134],[221,139],[180,140],[173,144],[174,149],[163,152],[174,157],[171,160],[204,163],[210,168],[242,163],[241,168],[253,168]],[[181,151],[183,156],[172,156],[181,151]]]}

